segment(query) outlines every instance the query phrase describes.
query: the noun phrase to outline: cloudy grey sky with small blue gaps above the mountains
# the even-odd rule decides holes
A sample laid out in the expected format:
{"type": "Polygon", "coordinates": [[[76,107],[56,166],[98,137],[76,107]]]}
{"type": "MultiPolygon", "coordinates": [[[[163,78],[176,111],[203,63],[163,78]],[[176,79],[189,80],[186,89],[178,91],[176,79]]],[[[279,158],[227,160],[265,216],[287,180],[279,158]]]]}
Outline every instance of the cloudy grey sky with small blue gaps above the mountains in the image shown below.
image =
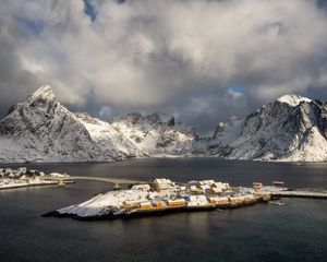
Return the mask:
{"type": "Polygon", "coordinates": [[[210,133],[292,93],[327,100],[323,0],[0,0],[0,116],[49,84],[101,119],[210,133]]]}

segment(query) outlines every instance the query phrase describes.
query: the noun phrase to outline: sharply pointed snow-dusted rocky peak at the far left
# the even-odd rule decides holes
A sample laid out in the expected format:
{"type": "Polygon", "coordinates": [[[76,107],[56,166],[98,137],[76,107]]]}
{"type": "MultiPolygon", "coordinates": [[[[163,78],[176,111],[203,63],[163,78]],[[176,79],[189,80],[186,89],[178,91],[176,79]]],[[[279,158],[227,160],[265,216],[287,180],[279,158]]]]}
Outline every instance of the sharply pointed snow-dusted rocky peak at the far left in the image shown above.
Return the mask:
{"type": "Polygon", "coordinates": [[[0,145],[1,162],[114,160],[128,156],[110,143],[98,143],[81,118],[60,105],[49,86],[10,109],[0,121],[0,145]]]}

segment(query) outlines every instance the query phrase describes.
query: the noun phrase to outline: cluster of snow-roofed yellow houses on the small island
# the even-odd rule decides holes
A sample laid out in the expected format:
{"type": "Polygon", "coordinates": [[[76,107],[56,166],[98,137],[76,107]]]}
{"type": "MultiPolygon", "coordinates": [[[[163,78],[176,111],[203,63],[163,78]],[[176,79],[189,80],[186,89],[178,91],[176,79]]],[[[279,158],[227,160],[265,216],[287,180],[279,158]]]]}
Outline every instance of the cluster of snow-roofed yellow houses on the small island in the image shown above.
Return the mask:
{"type": "Polygon", "coordinates": [[[246,205],[262,196],[253,188],[232,188],[215,180],[175,183],[170,179],[155,179],[150,184],[136,184],[132,190],[149,192],[147,200],[124,201],[126,212],[160,211],[173,209],[213,209],[246,205]]]}

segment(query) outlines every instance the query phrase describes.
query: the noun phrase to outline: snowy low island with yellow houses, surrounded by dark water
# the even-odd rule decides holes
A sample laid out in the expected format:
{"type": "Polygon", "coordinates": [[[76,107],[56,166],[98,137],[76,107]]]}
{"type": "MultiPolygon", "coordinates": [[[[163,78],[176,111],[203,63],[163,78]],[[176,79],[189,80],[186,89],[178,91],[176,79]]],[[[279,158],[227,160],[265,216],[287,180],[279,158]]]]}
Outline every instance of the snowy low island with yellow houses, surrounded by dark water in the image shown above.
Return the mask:
{"type": "MultiPolygon", "coordinates": [[[[72,217],[75,219],[113,219],[172,212],[194,212],[235,209],[259,202],[269,202],[274,193],[288,191],[282,182],[252,188],[231,187],[215,180],[173,182],[158,178],[149,183],[134,184],[128,190],[99,193],[90,200],[59,209],[43,216],[72,217]]],[[[327,195],[327,194],[326,194],[327,195]]]]}

